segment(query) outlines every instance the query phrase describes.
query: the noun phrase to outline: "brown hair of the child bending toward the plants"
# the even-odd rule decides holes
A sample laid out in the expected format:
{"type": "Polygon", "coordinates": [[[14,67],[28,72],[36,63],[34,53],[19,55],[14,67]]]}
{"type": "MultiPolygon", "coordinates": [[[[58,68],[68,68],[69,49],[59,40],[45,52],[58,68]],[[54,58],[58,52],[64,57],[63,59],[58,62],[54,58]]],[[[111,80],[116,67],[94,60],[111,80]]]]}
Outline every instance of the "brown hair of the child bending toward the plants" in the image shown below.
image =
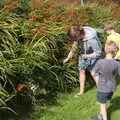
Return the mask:
{"type": "Polygon", "coordinates": [[[74,25],[69,28],[67,35],[71,40],[76,41],[80,36],[85,35],[85,31],[80,25],[74,25]]]}

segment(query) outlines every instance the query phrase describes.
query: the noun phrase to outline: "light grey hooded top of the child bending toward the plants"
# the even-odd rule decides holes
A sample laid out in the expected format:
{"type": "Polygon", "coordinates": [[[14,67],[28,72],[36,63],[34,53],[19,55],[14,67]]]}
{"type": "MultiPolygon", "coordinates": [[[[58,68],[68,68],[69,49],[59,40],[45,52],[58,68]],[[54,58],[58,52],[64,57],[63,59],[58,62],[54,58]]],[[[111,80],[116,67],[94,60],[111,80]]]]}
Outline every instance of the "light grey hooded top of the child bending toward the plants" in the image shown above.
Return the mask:
{"type": "Polygon", "coordinates": [[[89,54],[90,58],[98,58],[102,55],[101,43],[97,37],[95,29],[85,26],[85,37],[83,40],[74,41],[74,45],[79,45],[80,54],[89,54]]]}

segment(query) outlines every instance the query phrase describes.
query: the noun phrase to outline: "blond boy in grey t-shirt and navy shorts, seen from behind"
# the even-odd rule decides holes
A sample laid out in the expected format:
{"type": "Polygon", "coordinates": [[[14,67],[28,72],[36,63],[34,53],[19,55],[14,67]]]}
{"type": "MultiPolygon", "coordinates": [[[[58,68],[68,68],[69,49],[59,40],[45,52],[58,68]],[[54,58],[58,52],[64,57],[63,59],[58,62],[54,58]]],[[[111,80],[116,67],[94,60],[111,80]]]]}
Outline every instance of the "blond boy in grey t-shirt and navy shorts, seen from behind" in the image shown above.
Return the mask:
{"type": "Polygon", "coordinates": [[[92,120],[107,120],[106,102],[111,99],[115,91],[117,74],[120,75],[120,63],[113,58],[116,56],[118,47],[114,41],[105,44],[106,57],[98,60],[92,74],[98,76],[97,101],[100,103],[100,115],[92,120]],[[97,75],[96,75],[97,74],[97,75]]]}

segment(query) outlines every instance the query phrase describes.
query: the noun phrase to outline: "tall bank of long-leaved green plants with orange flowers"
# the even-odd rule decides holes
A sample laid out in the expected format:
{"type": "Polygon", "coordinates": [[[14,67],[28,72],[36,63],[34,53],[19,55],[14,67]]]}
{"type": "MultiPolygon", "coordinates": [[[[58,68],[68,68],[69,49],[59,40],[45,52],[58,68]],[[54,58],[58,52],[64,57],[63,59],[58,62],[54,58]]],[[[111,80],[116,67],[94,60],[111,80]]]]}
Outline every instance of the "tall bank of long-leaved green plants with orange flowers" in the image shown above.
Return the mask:
{"type": "MultiPolygon", "coordinates": [[[[26,89],[31,95],[67,91],[77,85],[76,58],[62,64],[71,42],[69,25],[82,24],[95,28],[113,20],[119,26],[119,7],[96,4],[57,4],[54,0],[2,0],[0,3],[0,100],[7,106],[13,95],[26,89]],[[117,14],[117,16],[114,16],[117,14]],[[4,91],[4,92],[3,92],[4,91]],[[6,97],[4,97],[6,95],[6,97]],[[4,97],[4,98],[2,98],[4,97]]],[[[119,31],[119,27],[117,28],[119,31]]],[[[100,38],[105,39],[104,34],[100,38]]],[[[104,42],[102,41],[104,44],[104,42]]]]}

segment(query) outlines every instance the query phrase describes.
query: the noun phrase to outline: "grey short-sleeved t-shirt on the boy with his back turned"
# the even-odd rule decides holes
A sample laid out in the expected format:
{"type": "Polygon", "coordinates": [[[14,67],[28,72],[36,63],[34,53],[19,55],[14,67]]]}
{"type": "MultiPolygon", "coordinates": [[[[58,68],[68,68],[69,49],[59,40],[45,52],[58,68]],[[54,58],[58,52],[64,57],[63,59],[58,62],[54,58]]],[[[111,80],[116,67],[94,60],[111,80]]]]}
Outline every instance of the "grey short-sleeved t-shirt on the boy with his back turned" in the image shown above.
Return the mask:
{"type": "Polygon", "coordinates": [[[114,92],[116,88],[115,77],[120,76],[120,63],[114,59],[98,60],[92,70],[99,75],[98,91],[109,93],[114,92]]]}

